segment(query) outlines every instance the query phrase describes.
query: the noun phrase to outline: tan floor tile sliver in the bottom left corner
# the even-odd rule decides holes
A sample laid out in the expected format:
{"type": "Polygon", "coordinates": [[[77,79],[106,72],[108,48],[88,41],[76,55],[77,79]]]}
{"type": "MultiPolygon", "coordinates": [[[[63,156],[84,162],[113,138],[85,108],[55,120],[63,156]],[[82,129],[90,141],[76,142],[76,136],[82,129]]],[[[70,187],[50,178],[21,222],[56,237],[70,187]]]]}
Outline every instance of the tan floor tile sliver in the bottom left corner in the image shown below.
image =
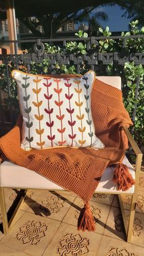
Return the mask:
{"type": "Polygon", "coordinates": [[[2,256],[27,256],[28,254],[24,254],[24,252],[17,251],[15,249],[12,249],[8,246],[1,245],[0,248],[0,255],[2,256]]]}

